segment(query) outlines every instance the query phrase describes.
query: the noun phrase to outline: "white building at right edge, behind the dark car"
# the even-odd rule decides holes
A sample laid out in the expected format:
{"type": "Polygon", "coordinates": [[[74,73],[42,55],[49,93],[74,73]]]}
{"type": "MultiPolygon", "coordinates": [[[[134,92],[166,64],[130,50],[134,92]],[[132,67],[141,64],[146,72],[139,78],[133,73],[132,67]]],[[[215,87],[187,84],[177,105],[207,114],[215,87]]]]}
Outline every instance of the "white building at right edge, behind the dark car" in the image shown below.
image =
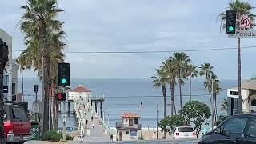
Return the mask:
{"type": "MultiPolygon", "coordinates": [[[[248,99],[250,90],[256,90],[256,81],[242,81],[241,87],[243,114],[256,113],[256,100],[248,99]]],[[[238,87],[227,89],[227,114],[236,114],[238,106],[238,87]]]]}

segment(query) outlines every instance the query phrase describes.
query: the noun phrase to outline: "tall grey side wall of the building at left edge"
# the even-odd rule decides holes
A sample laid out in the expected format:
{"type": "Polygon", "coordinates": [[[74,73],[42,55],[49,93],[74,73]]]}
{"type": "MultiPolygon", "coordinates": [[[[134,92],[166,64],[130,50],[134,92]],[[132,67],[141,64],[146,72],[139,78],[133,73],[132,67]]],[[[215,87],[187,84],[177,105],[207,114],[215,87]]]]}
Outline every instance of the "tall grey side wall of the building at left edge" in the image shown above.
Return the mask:
{"type": "Polygon", "coordinates": [[[0,38],[2,41],[6,42],[6,45],[9,49],[9,61],[6,65],[7,73],[4,72],[4,75],[8,75],[8,94],[4,94],[4,97],[8,98],[9,101],[11,101],[12,97],[12,37],[10,34],[7,34],[6,31],[2,30],[0,28],[0,38]]]}

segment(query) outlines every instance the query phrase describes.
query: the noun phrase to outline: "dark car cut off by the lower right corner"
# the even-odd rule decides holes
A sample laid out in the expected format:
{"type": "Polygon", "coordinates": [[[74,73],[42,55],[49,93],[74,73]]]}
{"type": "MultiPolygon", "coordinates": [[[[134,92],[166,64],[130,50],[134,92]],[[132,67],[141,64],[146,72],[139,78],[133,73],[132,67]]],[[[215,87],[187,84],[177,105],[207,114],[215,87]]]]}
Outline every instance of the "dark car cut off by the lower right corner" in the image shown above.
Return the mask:
{"type": "Polygon", "coordinates": [[[231,116],[203,135],[198,143],[256,143],[256,115],[231,116]]]}

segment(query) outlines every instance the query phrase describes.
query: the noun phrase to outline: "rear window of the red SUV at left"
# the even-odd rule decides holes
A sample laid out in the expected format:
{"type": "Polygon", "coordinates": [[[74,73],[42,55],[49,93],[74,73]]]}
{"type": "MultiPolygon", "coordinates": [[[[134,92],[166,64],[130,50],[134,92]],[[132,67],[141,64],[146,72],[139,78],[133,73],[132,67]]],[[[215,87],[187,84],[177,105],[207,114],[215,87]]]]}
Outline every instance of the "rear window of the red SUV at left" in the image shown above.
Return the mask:
{"type": "Polygon", "coordinates": [[[12,107],[11,113],[14,121],[19,121],[19,122],[29,121],[29,119],[26,116],[25,110],[23,110],[22,107],[12,107]]]}

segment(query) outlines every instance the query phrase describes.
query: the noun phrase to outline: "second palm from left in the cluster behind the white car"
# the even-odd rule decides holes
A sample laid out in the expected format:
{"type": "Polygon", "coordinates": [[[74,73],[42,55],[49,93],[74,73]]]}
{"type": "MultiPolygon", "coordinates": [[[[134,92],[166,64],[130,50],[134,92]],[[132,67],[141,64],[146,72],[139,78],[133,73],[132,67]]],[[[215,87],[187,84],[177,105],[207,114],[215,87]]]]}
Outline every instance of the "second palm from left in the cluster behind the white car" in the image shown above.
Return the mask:
{"type": "Polygon", "coordinates": [[[162,69],[166,73],[166,81],[170,84],[170,115],[176,114],[175,107],[175,86],[176,86],[176,69],[174,67],[174,61],[172,57],[166,59],[166,62],[162,62],[162,69]]]}

